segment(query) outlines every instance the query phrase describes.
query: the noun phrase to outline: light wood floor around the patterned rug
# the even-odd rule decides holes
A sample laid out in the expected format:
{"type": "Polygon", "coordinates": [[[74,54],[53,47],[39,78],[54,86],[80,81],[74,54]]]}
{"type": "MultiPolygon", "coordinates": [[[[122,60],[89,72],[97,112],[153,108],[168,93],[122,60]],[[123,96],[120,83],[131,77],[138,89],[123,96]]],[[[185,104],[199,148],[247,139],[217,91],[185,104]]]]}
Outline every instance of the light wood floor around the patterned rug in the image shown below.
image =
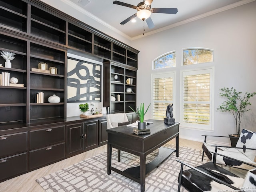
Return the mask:
{"type": "MultiPolygon", "coordinates": [[[[170,141],[175,144],[175,139],[170,141]]],[[[180,146],[187,146],[201,150],[202,142],[196,142],[180,138],[180,146]]],[[[70,157],[60,162],[45,166],[43,168],[28,172],[21,176],[0,183],[0,192],[44,192],[36,182],[36,179],[66,168],[74,163],[90,158],[96,154],[107,151],[107,145],[70,157]]],[[[1,171],[1,170],[0,170],[1,171]]]]}

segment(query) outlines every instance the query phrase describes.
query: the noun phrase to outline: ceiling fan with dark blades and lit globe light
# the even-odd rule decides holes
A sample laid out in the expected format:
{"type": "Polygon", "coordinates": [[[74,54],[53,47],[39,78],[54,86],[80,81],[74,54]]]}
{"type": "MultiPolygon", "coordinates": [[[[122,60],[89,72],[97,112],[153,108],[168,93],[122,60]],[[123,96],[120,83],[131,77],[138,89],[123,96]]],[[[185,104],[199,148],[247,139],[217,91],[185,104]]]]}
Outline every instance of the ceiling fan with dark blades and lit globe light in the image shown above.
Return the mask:
{"type": "Polygon", "coordinates": [[[151,13],[176,14],[178,12],[177,8],[151,8],[152,2],[153,0],[144,0],[143,2],[140,2],[137,6],[120,2],[120,1],[114,1],[113,4],[130,7],[137,10],[136,14],[133,14],[132,16],[128,17],[126,20],[122,21],[120,23],[121,25],[126,24],[128,21],[132,20],[137,16],[142,21],[146,20],[146,23],[148,24],[148,28],[150,29],[154,28],[155,26],[152,19],[150,18],[151,13]]]}

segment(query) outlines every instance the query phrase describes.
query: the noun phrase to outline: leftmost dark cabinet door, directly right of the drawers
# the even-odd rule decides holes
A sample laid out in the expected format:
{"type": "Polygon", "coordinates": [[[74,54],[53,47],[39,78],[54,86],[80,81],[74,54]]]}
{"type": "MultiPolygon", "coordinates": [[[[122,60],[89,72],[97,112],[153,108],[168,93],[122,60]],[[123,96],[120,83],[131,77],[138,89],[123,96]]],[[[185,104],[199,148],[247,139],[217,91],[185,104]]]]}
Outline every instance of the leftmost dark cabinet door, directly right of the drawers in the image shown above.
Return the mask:
{"type": "Polygon", "coordinates": [[[84,150],[83,128],[83,123],[67,125],[67,156],[84,150]]]}

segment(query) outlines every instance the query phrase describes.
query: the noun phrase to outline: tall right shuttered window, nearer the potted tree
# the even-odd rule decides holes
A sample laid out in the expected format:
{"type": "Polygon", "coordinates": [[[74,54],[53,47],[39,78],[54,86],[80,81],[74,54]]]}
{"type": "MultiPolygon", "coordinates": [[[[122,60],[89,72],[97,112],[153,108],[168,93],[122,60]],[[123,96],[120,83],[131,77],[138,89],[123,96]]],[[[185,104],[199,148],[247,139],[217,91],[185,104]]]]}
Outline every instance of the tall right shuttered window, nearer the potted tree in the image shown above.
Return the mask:
{"type": "Polygon", "coordinates": [[[212,70],[182,72],[182,126],[212,130],[212,70]]]}

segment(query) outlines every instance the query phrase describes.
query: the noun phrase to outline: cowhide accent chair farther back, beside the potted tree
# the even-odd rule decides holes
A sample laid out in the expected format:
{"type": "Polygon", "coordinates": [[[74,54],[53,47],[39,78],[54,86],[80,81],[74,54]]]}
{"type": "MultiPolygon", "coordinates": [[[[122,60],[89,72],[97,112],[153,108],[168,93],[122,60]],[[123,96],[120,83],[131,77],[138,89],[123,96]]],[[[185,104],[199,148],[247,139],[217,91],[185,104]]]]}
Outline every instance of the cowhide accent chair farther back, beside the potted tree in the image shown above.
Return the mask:
{"type": "Polygon", "coordinates": [[[204,153],[205,153],[208,156],[208,158],[211,161],[213,161],[214,156],[210,151],[214,151],[235,159],[235,160],[231,160],[230,158],[217,156],[216,157],[217,164],[230,166],[234,168],[240,168],[244,170],[250,170],[252,167],[246,164],[242,164],[237,160],[256,165],[256,133],[255,132],[243,129],[240,134],[239,140],[236,144],[236,147],[209,144],[206,142],[206,135],[204,136],[205,136],[205,140],[202,145],[202,149],[203,149],[202,159],[204,158],[204,153]]]}

